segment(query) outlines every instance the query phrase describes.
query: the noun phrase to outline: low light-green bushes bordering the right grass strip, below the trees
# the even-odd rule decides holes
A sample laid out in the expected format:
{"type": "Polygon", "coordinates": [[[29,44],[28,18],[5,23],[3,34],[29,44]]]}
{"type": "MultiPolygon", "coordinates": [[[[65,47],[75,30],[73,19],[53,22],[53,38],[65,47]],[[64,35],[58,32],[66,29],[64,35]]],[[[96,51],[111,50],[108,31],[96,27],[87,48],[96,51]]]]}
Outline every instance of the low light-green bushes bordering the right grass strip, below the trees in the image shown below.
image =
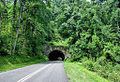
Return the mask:
{"type": "Polygon", "coordinates": [[[83,58],[82,65],[110,81],[120,81],[120,65],[108,62],[105,56],[98,58],[96,62],[93,59],[83,58]]]}

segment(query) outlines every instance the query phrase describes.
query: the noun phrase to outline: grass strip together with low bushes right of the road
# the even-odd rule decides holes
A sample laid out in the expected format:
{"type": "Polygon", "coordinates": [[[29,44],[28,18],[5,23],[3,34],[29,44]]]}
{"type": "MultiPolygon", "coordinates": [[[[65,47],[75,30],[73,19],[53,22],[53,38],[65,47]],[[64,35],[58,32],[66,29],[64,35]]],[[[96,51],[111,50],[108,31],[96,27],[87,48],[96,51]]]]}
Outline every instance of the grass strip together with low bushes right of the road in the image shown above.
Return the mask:
{"type": "Polygon", "coordinates": [[[77,82],[77,80],[80,80],[80,82],[82,82],[82,80],[83,82],[119,82],[120,81],[119,64],[116,63],[113,65],[112,62],[107,62],[105,60],[105,57],[101,57],[97,61],[88,59],[86,57],[84,57],[81,60],[82,61],[75,63],[70,61],[65,61],[64,63],[64,67],[66,69],[68,78],[72,79],[70,80],[71,82],[77,82]],[[86,70],[88,72],[83,70],[86,70]],[[88,77],[88,79],[82,77],[81,74],[83,73],[80,73],[79,71],[80,72],[82,71],[86,75],[85,77],[86,78],[88,77]],[[89,80],[89,77],[91,77],[92,80],[89,80]],[[106,80],[100,79],[100,77],[106,80]]]}

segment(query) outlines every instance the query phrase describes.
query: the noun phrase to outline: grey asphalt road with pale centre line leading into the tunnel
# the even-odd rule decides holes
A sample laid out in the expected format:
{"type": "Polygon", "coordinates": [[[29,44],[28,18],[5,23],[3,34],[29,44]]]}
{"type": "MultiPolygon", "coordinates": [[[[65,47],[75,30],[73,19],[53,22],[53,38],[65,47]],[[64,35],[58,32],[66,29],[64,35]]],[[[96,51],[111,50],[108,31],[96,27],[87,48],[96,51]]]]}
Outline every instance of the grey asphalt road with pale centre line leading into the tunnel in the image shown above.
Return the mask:
{"type": "Polygon", "coordinates": [[[62,61],[49,61],[2,72],[0,82],[68,82],[68,78],[62,61]]]}

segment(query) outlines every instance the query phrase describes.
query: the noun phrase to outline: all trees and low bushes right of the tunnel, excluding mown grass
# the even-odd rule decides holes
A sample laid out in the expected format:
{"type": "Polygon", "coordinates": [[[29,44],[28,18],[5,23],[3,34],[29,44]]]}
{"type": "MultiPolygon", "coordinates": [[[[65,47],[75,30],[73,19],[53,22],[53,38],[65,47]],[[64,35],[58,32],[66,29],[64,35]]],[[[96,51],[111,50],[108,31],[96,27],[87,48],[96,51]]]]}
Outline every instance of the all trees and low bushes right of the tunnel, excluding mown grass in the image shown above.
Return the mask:
{"type": "Polygon", "coordinates": [[[67,61],[120,81],[120,8],[118,0],[53,1],[54,27],[70,46],[67,61]],[[59,3],[59,4],[58,4],[59,3]],[[118,66],[119,68],[119,66],[118,66]]]}

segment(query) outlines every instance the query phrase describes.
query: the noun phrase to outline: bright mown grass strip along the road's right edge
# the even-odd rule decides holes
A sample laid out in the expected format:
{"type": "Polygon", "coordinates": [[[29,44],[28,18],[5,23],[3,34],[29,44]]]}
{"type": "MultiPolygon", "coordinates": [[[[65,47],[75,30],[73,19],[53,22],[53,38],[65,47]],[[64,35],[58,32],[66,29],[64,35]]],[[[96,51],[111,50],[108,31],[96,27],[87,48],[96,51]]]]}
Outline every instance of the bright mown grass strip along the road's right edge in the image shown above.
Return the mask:
{"type": "Polygon", "coordinates": [[[64,68],[70,82],[110,82],[96,73],[88,71],[77,62],[64,62],[64,68]]]}

